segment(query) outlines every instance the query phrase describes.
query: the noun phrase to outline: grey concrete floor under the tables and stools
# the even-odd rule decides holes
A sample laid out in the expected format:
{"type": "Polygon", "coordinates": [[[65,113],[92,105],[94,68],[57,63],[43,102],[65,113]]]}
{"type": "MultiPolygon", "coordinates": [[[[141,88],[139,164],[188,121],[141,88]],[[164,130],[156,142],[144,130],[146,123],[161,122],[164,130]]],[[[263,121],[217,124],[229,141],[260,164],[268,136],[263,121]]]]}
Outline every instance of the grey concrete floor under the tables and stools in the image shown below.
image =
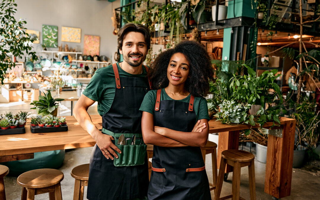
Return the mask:
{"type": "MultiPolygon", "coordinates": [[[[12,111],[16,114],[20,110],[30,111],[31,106],[29,103],[14,102],[14,103],[0,103],[0,114],[5,111],[12,111]]],[[[33,114],[35,115],[35,110],[33,114]]],[[[88,110],[89,114],[97,114],[97,106],[93,105],[88,110]]],[[[70,115],[70,102],[62,102],[60,106],[60,115],[67,116],[70,115]]],[[[241,147],[240,147],[241,148],[241,147]]],[[[244,147],[244,150],[249,149],[244,147]]],[[[66,151],[65,160],[63,165],[60,167],[64,173],[64,180],[61,182],[62,197],[66,200],[73,199],[73,189],[74,189],[74,178],[71,177],[70,172],[73,167],[89,163],[92,147],[89,148],[77,148],[66,151]]],[[[255,148],[252,148],[252,153],[255,153],[255,148]]],[[[257,200],[262,199],[272,199],[272,196],[264,193],[264,177],[266,164],[260,163],[255,160],[255,180],[256,180],[256,196],[257,200]]],[[[212,182],[212,164],[211,155],[206,156],[206,171],[208,174],[208,179],[212,182]]],[[[248,180],[248,168],[243,167],[241,169],[241,181],[240,181],[240,196],[245,199],[250,199],[249,193],[249,180],[248,180]]],[[[7,200],[18,200],[21,199],[21,187],[17,184],[17,177],[5,176],[4,186],[6,192],[7,200]]],[[[319,187],[320,187],[320,177],[313,176],[309,173],[303,172],[299,169],[293,169],[292,172],[292,187],[291,195],[282,199],[319,199],[319,187]]],[[[84,197],[86,197],[86,188],[84,189],[84,197]]],[[[232,188],[232,172],[229,173],[228,180],[223,182],[221,196],[227,196],[231,194],[232,188]]],[[[213,191],[211,191],[212,199],[214,197],[213,191]]],[[[35,197],[36,200],[49,199],[48,194],[41,194],[35,197]]],[[[86,198],[84,198],[86,199],[86,198]]]]}

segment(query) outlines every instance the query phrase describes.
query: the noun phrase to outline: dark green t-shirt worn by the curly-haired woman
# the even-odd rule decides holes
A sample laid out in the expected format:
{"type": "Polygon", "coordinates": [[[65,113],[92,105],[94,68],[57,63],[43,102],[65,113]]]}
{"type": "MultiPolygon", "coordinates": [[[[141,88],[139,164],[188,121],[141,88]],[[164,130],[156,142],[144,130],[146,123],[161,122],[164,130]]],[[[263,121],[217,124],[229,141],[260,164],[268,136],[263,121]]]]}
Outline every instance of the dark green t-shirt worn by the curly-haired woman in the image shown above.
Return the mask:
{"type": "MultiPolygon", "coordinates": [[[[146,111],[148,113],[151,113],[153,115],[153,112],[155,110],[156,106],[156,96],[157,96],[157,91],[156,90],[150,90],[145,96],[144,99],[141,103],[140,111],[146,111]]],[[[188,97],[181,99],[181,100],[176,100],[176,101],[182,101],[182,102],[187,102],[189,103],[190,101],[190,94],[188,97]]],[[[161,90],[161,97],[160,100],[174,100],[168,96],[168,94],[165,92],[164,89],[161,90]]],[[[208,106],[207,106],[207,101],[203,97],[195,97],[195,100],[193,102],[193,110],[196,113],[196,118],[197,120],[199,119],[208,119],[209,114],[208,114],[208,106]]]]}

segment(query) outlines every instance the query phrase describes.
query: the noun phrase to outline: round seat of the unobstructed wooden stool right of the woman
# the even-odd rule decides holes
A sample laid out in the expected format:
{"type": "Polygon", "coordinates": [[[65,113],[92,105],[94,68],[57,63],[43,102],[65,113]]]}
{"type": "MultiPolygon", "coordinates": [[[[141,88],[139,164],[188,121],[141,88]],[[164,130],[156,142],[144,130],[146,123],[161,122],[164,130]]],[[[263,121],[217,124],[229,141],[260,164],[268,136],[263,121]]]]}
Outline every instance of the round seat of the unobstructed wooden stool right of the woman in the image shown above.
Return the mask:
{"type": "Polygon", "coordinates": [[[236,149],[224,150],[222,151],[221,156],[234,162],[249,162],[254,160],[254,155],[252,153],[236,149]]]}

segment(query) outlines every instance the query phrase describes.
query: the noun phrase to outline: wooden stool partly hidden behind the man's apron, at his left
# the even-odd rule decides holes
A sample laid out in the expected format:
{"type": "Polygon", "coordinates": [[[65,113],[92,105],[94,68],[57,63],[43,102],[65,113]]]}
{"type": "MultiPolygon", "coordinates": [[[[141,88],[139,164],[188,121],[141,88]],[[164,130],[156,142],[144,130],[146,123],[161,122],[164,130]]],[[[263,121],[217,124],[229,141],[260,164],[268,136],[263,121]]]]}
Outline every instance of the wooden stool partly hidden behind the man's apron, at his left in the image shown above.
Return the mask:
{"type": "Polygon", "coordinates": [[[75,190],[73,192],[74,200],[82,200],[84,186],[88,186],[89,164],[82,164],[71,170],[71,176],[75,178],[75,190]]]}

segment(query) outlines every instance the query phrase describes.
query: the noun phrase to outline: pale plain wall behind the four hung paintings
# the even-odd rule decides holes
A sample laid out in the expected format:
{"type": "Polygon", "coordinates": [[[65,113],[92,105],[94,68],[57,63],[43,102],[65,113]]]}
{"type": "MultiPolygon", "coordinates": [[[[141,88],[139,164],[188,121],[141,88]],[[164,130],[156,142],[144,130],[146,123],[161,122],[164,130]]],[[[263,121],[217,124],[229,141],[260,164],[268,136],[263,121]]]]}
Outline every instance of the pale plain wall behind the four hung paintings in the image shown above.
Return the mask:
{"type": "MultiPolygon", "coordinates": [[[[113,35],[111,17],[113,9],[120,7],[120,0],[18,0],[17,20],[25,19],[26,28],[40,31],[42,43],[42,25],[58,26],[58,45],[61,45],[61,27],[81,28],[81,43],[62,42],[71,48],[80,47],[83,52],[84,35],[100,36],[100,55],[112,58],[117,51],[117,36],[113,35]]],[[[37,52],[42,48],[35,44],[37,52]]],[[[58,51],[58,48],[47,48],[58,51]]]]}

